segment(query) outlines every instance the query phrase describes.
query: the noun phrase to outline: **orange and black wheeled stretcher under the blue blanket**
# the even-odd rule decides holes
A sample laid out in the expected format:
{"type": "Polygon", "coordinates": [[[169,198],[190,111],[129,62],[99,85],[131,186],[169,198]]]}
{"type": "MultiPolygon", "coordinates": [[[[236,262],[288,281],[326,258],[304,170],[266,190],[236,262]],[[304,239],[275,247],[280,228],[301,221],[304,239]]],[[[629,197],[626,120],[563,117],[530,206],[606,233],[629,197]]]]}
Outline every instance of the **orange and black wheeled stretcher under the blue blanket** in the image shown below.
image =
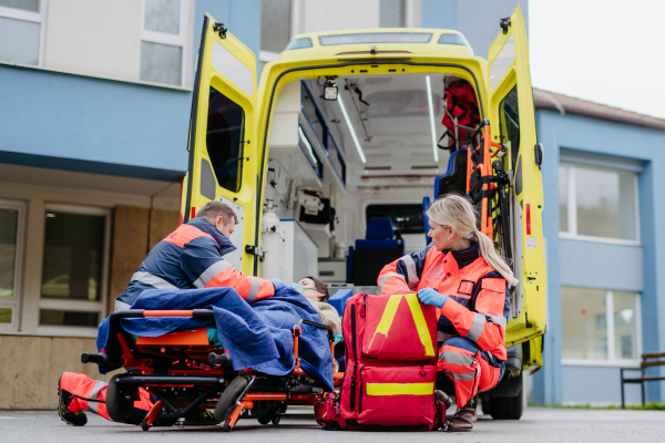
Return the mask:
{"type": "MultiPolygon", "coordinates": [[[[262,424],[278,424],[288,405],[313,405],[324,384],[310,378],[298,357],[298,337],[307,323],[327,332],[332,352],[335,337],[330,327],[301,319],[293,326],[295,369],[286,375],[268,375],[246,369],[234,371],[233,358],[225,351],[212,328],[172,332],[161,337],[135,337],[121,324],[124,318],[192,317],[209,319],[209,309],[126,310],[110,316],[110,336],[117,339],[122,352],[117,358],[106,353],[83,353],[83,363],[100,367],[115,364],[125,373],[111,379],[106,391],[106,410],[116,422],[125,422],[139,399],[139,389],[154,399],[152,409],[141,423],[144,431],[158,423],[188,424],[185,415],[195,409],[214,409],[214,422],[231,431],[239,419],[256,419],[262,424]]],[[[339,385],[342,373],[335,373],[339,385]]],[[[200,423],[197,423],[200,424],[200,423]]]]}

